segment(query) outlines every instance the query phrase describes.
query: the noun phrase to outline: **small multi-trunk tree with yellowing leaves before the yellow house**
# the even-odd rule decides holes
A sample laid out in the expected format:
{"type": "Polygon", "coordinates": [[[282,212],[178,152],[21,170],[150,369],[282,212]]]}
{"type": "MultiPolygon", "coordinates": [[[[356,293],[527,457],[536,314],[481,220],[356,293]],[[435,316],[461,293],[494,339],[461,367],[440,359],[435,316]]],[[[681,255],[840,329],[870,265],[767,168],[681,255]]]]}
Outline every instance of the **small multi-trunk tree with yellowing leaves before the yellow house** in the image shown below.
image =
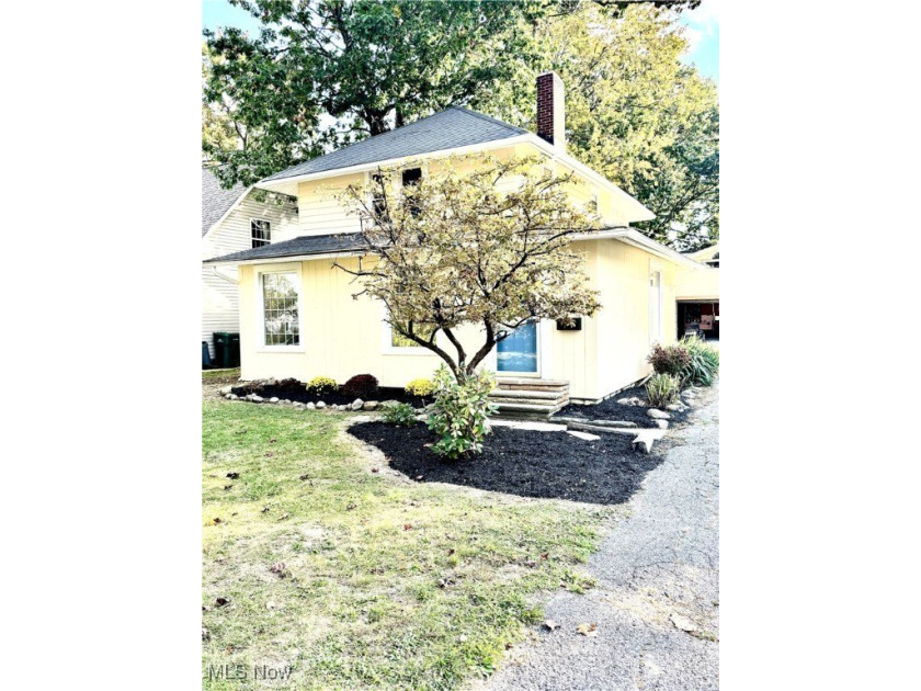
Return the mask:
{"type": "Polygon", "coordinates": [[[367,186],[342,193],[376,260],[357,270],[337,265],[356,276],[355,297],[382,301],[393,328],[436,353],[455,377],[473,375],[530,319],[600,308],[584,261],[570,249],[599,219],[570,202],[571,175],[545,175],[535,158],[486,156],[451,159],[409,189],[397,186],[397,172],[382,169],[367,186]],[[468,324],[482,333],[473,353],[457,336],[468,324]],[[440,333],[450,346],[442,348],[440,333]]]}

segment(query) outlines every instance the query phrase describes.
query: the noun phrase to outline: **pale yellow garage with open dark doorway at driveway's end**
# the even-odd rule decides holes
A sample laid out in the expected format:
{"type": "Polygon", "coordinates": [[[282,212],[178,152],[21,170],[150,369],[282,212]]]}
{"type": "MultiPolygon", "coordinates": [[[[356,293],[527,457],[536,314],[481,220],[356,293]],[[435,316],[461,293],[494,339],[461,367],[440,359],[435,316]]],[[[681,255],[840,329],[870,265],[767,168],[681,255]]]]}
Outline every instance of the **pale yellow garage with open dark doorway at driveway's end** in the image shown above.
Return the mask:
{"type": "Polygon", "coordinates": [[[675,274],[678,337],[700,331],[719,340],[719,242],[685,256],[698,265],[675,274]]]}

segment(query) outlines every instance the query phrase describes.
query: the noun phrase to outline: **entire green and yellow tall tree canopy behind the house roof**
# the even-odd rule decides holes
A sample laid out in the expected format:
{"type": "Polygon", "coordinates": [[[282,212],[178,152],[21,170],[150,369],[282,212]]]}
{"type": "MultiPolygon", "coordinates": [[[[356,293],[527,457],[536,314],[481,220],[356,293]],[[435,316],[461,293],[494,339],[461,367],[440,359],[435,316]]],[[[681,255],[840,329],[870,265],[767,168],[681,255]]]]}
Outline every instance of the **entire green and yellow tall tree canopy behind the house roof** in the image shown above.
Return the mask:
{"type": "Polygon", "coordinates": [[[695,0],[230,2],[263,29],[206,32],[205,103],[239,134],[203,136],[226,184],[452,103],[533,129],[536,75],[554,69],[569,151],[656,213],[640,229],[679,249],[718,238],[717,90],[681,61],[673,7],[695,0]]]}

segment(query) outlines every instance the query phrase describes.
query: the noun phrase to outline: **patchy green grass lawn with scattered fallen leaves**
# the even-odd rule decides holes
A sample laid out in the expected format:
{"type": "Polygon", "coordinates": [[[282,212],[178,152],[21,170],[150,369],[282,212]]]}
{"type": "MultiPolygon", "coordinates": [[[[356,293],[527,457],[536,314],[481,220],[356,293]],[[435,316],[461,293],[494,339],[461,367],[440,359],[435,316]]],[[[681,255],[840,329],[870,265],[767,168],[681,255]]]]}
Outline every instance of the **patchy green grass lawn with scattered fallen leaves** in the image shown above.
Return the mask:
{"type": "Polygon", "coordinates": [[[532,596],[591,585],[579,565],[616,510],[407,480],[342,414],[206,397],[202,417],[205,689],[454,689],[488,675],[542,620],[532,596]],[[208,679],[238,664],[245,680],[208,679]],[[263,665],[294,669],[253,679],[263,665]]]}

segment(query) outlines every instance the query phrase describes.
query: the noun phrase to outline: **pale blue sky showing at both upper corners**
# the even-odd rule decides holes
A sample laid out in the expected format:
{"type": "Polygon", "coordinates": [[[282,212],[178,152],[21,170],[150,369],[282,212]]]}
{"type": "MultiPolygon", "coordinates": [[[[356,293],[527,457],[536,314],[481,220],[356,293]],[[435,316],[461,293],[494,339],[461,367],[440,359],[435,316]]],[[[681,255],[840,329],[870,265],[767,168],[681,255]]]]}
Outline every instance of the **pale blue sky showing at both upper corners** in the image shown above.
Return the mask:
{"type": "MultiPolygon", "coordinates": [[[[696,10],[683,12],[681,23],[691,50],[685,61],[694,64],[705,77],[719,82],[719,3],[720,0],[703,0],[696,10]]],[[[258,31],[259,21],[249,12],[228,4],[227,0],[202,0],[202,29],[238,26],[258,31]]]]}

